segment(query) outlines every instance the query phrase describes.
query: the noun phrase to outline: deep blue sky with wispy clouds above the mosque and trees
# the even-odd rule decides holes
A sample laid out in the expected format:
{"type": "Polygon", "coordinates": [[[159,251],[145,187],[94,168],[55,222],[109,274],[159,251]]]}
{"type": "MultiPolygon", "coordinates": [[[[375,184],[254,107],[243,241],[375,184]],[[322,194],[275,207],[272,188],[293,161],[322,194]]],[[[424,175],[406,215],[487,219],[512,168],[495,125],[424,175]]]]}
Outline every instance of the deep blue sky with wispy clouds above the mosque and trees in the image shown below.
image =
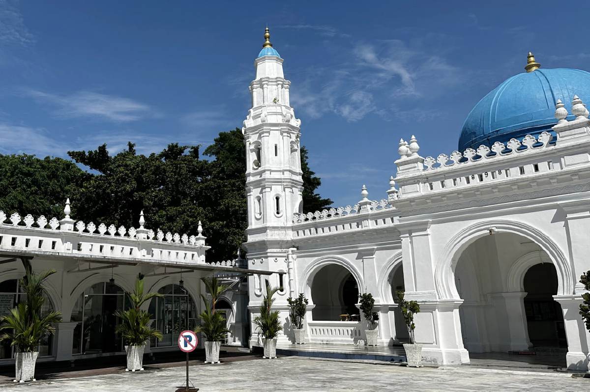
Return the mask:
{"type": "Polygon", "coordinates": [[[263,43],[335,205],[386,197],[400,137],[451,153],[470,109],[523,72],[590,70],[589,2],[0,0],[0,153],[206,146],[241,127],[263,43]]]}

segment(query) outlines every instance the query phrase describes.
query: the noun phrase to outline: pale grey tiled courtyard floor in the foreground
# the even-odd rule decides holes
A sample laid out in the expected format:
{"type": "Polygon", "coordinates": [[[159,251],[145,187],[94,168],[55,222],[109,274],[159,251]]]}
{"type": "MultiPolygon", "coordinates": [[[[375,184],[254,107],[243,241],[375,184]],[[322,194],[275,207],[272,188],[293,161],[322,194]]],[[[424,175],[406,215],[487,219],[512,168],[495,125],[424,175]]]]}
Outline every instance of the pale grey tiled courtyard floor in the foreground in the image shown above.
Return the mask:
{"type": "MultiPolygon", "coordinates": [[[[406,368],[346,361],[282,357],[190,368],[202,392],[212,391],[584,391],[590,379],[567,373],[537,373],[486,368],[406,368]]],[[[183,382],[184,367],[143,373],[64,378],[27,384],[2,384],[17,392],[174,391],[183,382]]]]}

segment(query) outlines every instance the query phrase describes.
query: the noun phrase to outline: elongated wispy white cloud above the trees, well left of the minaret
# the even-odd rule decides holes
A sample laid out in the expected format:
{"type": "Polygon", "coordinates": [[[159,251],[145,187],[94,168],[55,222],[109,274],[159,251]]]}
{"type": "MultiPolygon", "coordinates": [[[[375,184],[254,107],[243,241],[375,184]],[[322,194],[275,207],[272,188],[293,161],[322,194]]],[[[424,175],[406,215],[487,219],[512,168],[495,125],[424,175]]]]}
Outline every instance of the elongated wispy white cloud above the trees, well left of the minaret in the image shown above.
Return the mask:
{"type": "Polygon", "coordinates": [[[158,116],[150,106],[130,98],[77,91],[70,95],[44,93],[38,90],[23,90],[25,95],[55,107],[53,114],[57,118],[93,117],[114,123],[141,120],[158,116]]]}

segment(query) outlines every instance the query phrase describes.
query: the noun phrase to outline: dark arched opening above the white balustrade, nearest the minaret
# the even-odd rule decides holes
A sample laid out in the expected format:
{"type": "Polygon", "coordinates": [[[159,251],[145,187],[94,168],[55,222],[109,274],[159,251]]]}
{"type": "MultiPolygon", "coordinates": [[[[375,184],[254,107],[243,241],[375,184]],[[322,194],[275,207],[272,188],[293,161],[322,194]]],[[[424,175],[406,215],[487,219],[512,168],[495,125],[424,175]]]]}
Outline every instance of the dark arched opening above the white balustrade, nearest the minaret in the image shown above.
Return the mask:
{"type": "Polygon", "coordinates": [[[312,318],[315,321],[358,321],[359,284],[342,265],[329,263],[313,276],[312,318]]]}

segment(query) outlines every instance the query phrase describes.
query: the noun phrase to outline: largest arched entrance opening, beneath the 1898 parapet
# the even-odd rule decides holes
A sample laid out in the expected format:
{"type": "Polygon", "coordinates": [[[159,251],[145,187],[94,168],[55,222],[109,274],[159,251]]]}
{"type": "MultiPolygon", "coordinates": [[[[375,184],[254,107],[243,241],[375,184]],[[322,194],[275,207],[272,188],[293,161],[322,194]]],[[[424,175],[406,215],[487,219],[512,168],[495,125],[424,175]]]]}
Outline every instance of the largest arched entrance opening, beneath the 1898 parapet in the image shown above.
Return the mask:
{"type": "MultiPolygon", "coordinates": [[[[563,326],[563,315],[552,298],[558,272],[535,241],[491,232],[455,258],[455,287],[464,300],[459,309],[463,345],[471,358],[473,353],[531,353],[549,340],[559,347],[555,328],[559,322],[563,326]]],[[[565,365],[565,351],[562,359],[565,365]]]]}

